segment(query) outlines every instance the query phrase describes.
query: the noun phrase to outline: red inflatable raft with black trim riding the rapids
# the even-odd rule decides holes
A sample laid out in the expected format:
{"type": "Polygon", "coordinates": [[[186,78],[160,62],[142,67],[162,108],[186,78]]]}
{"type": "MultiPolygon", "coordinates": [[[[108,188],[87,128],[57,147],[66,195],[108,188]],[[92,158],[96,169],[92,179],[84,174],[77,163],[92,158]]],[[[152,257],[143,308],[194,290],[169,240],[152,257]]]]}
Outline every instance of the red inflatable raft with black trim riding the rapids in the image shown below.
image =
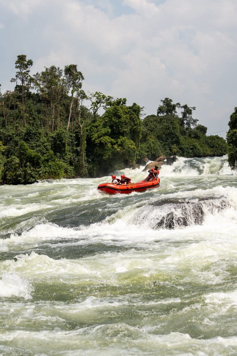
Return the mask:
{"type": "Polygon", "coordinates": [[[153,179],[149,182],[140,180],[140,182],[129,183],[129,184],[113,184],[113,183],[102,183],[98,185],[99,192],[104,192],[108,194],[129,194],[132,192],[145,192],[147,189],[160,187],[160,178],[153,179]]]}

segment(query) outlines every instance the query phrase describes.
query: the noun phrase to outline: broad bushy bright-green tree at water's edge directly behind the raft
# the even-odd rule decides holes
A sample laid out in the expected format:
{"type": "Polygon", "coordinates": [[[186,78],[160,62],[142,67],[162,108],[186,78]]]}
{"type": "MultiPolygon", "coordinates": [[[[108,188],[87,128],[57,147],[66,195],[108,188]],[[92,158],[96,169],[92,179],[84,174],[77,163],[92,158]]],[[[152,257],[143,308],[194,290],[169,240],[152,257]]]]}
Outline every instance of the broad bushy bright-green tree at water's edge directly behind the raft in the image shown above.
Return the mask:
{"type": "Polygon", "coordinates": [[[116,99],[101,117],[88,128],[88,156],[95,162],[95,173],[122,168],[133,164],[139,155],[141,138],[141,108],[137,104],[125,105],[126,100],[116,99]],[[99,165],[96,165],[96,160],[99,165]]]}

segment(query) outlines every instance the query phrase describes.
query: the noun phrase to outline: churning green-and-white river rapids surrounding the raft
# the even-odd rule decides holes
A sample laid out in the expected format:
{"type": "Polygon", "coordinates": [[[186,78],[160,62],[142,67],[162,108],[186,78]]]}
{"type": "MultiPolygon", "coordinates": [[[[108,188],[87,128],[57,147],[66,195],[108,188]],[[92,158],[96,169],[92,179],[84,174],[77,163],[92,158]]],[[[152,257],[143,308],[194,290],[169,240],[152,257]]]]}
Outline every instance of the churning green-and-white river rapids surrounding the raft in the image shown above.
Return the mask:
{"type": "Polygon", "coordinates": [[[179,158],[145,193],[97,192],[110,179],[0,187],[0,355],[237,355],[227,157],[179,158]]]}

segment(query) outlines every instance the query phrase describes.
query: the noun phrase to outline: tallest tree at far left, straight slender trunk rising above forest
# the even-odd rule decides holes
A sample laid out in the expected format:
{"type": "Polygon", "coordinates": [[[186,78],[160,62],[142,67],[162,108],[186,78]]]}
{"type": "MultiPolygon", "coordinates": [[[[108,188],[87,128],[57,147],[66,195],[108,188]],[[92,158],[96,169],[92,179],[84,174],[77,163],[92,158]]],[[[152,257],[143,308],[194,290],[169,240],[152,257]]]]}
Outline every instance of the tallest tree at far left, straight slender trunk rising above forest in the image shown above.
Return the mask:
{"type": "Polygon", "coordinates": [[[30,82],[29,71],[33,66],[32,59],[26,59],[26,54],[19,54],[15,62],[15,68],[17,69],[15,78],[11,79],[11,82],[17,82],[20,80],[22,86],[22,122],[23,127],[26,126],[25,119],[25,86],[30,82]]]}

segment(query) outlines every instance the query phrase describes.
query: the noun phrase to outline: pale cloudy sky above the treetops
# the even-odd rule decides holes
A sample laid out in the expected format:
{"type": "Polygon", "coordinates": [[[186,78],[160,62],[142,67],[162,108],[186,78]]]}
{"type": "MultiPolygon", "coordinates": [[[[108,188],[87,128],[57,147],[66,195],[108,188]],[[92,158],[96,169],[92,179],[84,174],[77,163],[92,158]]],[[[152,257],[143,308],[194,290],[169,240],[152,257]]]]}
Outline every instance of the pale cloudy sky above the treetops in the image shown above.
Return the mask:
{"type": "Polygon", "coordinates": [[[1,91],[18,54],[31,74],[70,63],[85,91],[156,114],[161,99],[225,137],[237,106],[237,0],[0,0],[1,91]]]}

